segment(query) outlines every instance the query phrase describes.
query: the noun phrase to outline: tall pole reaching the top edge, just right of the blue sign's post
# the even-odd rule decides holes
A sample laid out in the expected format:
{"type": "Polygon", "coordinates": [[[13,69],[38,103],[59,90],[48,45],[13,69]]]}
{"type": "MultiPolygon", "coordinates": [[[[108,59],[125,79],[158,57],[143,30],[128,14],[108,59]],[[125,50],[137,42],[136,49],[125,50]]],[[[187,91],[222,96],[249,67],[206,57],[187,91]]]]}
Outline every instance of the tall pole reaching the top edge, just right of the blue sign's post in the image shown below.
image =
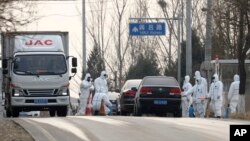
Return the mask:
{"type": "Polygon", "coordinates": [[[192,0],[186,0],[186,74],[192,76],[192,0]]]}

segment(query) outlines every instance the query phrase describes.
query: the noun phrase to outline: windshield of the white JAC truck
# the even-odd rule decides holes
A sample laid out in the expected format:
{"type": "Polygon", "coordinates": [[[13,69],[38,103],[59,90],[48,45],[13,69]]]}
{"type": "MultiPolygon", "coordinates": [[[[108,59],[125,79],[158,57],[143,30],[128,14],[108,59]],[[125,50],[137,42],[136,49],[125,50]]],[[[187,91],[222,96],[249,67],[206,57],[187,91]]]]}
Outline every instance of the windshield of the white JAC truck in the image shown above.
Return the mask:
{"type": "Polygon", "coordinates": [[[20,75],[61,75],[67,72],[63,55],[17,55],[14,73],[20,75]]]}

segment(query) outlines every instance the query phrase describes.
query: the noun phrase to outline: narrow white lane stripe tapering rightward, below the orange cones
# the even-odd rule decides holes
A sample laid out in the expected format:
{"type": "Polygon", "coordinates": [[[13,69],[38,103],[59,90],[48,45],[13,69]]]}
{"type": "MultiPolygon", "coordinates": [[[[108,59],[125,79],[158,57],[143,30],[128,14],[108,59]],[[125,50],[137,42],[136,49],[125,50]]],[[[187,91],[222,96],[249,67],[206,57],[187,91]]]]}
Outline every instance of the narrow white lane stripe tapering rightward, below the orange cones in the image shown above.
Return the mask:
{"type": "Polygon", "coordinates": [[[106,118],[105,117],[98,117],[98,116],[72,116],[71,118],[82,118],[82,119],[97,121],[97,122],[116,125],[116,126],[124,126],[124,125],[130,124],[130,123],[125,122],[125,121],[110,119],[107,117],[106,118]]]}

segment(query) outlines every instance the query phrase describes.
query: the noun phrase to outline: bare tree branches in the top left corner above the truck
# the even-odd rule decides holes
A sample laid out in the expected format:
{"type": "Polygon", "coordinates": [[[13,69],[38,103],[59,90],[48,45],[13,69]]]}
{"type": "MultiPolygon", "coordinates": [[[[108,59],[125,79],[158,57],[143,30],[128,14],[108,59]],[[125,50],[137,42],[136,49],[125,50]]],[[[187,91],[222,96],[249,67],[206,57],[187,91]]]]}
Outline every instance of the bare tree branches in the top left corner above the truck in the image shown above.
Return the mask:
{"type": "Polygon", "coordinates": [[[0,1],[0,31],[13,31],[35,20],[34,5],[24,0],[0,1]]]}

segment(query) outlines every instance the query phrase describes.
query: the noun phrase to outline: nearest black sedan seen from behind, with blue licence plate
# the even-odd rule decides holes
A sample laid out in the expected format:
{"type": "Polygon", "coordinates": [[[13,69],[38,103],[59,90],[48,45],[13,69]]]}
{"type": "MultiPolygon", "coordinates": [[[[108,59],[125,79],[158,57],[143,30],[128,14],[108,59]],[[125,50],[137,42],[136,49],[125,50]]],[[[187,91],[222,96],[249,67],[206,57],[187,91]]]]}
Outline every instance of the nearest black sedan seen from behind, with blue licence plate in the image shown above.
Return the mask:
{"type": "Polygon", "coordinates": [[[174,77],[146,76],[135,95],[134,115],[144,113],[181,117],[181,89],[174,77]]]}

